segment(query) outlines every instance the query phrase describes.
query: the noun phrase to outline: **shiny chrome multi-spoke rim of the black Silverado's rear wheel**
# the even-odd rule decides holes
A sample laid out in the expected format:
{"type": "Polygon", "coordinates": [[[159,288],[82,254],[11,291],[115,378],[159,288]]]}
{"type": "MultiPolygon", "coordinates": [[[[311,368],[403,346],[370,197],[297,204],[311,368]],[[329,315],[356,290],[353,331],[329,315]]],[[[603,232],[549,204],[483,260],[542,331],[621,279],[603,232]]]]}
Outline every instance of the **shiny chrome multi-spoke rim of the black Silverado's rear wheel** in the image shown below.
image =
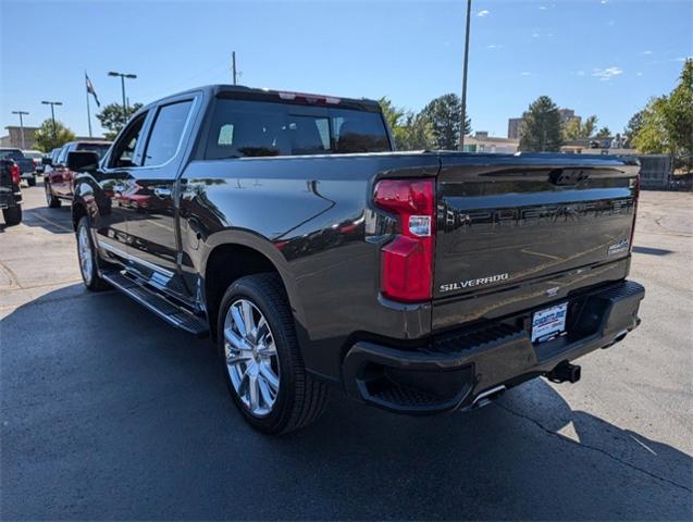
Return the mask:
{"type": "Polygon", "coordinates": [[[280,359],[262,312],[247,299],[224,318],[226,371],[236,395],[255,417],[270,414],[280,391],[280,359]]]}

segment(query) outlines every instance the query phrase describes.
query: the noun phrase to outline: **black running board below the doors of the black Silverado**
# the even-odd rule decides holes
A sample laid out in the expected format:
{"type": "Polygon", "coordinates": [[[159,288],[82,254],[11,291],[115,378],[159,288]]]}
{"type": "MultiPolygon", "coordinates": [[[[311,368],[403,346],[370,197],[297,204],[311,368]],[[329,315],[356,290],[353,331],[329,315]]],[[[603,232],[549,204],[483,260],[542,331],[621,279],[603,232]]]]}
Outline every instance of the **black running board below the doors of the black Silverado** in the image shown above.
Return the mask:
{"type": "Polygon", "coordinates": [[[148,289],[117,271],[104,272],[101,277],[111,284],[116,290],[122,291],[127,297],[133,298],[143,307],[152,311],[166,323],[176,328],[184,330],[196,337],[207,337],[209,326],[202,318],[193,315],[181,307],[176,307],[171,301],[148,289]]]}

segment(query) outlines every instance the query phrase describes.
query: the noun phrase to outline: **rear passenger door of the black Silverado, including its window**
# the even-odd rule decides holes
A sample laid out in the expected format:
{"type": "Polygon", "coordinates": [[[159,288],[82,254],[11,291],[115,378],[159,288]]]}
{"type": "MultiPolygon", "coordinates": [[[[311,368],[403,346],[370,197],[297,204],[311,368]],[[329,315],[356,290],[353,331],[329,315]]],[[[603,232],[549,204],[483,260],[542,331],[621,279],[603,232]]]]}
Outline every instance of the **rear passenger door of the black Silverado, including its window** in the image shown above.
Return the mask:
{"type": "Polygon", "coordinates": [[[151,285],[182,299],[188,293],[178,276],[176,178],[196,101],[188,95],[151,110],[143,166],[134,172],[123,194],[134,270],[151,285]]]}

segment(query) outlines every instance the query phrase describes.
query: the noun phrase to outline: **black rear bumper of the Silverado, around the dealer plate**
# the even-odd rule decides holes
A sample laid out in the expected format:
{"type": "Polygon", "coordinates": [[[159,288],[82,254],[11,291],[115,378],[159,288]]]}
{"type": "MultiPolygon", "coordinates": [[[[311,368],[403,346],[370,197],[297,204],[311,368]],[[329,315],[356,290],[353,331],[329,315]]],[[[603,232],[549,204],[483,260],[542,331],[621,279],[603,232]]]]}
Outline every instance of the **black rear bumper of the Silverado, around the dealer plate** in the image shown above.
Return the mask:
{"type": "Polygon", "coordinates": [[[622,281],[567,299],[566,335],[539,345],[530,340],[535,310],[446,334],[416,349],[359,341],[344,359],[344,383],[352,397],[399,413],[469,408],[490,390],[545,375],[622,340],[640,324],[644,296],[642,285],[622,281]]]}

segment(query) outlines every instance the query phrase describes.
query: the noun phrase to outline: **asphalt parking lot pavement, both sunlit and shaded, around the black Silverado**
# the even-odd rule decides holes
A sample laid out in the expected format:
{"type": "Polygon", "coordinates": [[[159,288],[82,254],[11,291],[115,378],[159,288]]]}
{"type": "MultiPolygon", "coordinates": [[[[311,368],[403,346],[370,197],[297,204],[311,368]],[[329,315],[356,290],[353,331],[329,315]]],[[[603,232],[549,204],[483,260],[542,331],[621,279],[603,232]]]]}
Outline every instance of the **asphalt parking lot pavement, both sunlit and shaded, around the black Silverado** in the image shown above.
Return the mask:
{"type": "Polygon", "coordinates": [[[70,211],[0,224],[2,520],[682,520],[693,512],[693,195],[643,192],[642,326],[471,413],[335,394],[282,438],[232,407],[211,343],[83,289],[70,211]]]}

